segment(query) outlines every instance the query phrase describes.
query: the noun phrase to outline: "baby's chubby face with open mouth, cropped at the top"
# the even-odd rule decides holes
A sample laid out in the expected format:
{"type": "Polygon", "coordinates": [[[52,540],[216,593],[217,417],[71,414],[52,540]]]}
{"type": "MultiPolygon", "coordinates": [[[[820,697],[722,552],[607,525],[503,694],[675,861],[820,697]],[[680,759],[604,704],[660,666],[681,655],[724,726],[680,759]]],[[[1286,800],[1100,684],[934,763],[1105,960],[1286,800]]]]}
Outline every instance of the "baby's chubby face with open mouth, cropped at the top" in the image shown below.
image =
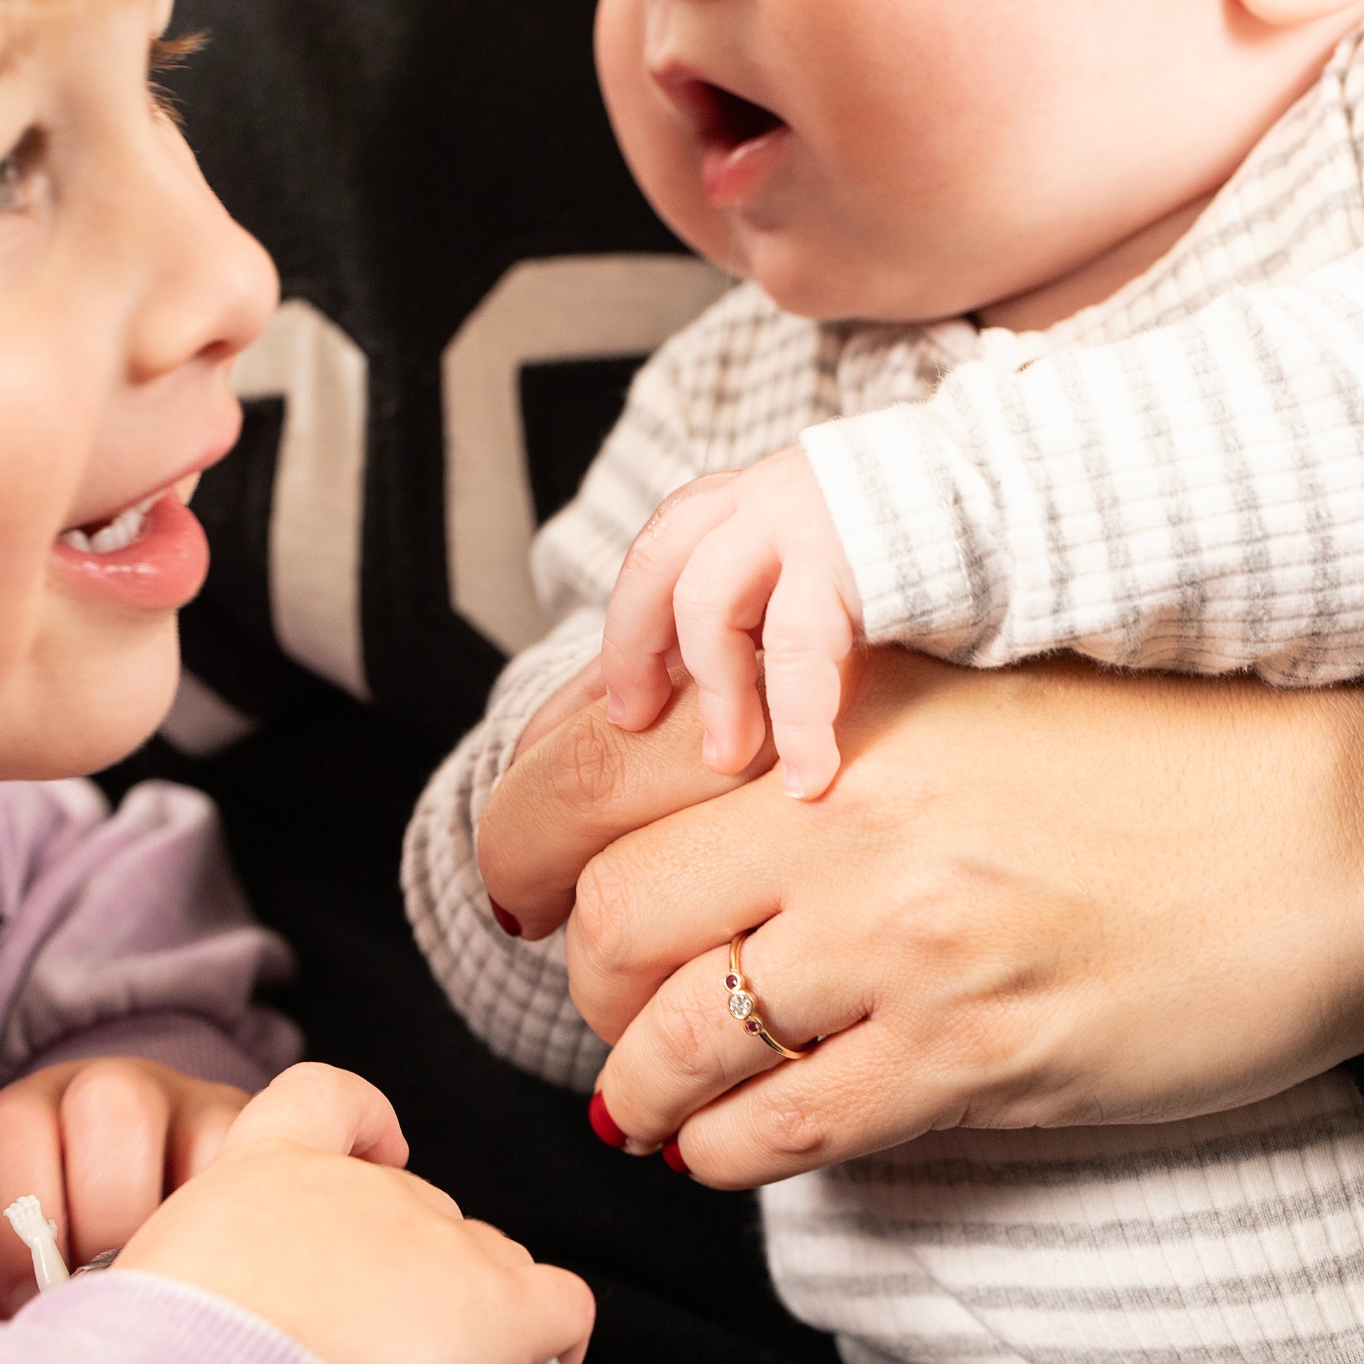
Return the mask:
{"type": "Polygon", "coordinates": [[[908,322],[1061,280],[1206,196],[1312,78],[1323,23],[1237,0],[600,0],[597,61],[689,243],[791,311],[908,322]]]}

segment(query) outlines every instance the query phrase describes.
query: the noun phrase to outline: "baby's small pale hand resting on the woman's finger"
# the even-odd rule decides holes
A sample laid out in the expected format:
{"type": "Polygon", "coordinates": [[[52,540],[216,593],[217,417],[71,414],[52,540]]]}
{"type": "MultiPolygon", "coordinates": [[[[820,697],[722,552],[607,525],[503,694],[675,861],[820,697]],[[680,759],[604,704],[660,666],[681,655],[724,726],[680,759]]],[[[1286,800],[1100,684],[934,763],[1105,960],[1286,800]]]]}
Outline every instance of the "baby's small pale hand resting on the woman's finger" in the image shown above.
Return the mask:
{"type": "Polygon", "coordinates": [[[839,664],[862,627],[862,600],[814,471],[798,447],[713,473],[653,514],[617,580],[602,642],[611,720],[653,723],[681,655],[700,687],[702,760],[742,772],[767,734],[788,795],[822,795],[839,769],[839,664]]]}

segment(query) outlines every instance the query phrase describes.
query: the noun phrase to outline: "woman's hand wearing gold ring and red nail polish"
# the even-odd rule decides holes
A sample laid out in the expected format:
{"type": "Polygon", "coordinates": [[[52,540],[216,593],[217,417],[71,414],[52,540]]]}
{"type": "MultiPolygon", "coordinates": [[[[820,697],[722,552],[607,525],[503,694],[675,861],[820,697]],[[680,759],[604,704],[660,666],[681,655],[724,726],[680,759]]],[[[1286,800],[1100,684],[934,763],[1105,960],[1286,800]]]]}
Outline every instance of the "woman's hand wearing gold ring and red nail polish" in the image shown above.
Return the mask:
{"type": "Polygon", "coordinates": [[[686,693],[642,735],[588,709],[479,835],[528,937],[576,880],[574,1000],[636,1150],[677,1133],[741,1187],[929,1128],[1230,1108],[1364,1050],[1353,690],[874,651],[810,805],[775,773],[726,790],[697,730],[686,693]],[[727,1012],[754,926],[743,974],[777,1039],[827,1035],[807,1058],[727,1012]]]}

